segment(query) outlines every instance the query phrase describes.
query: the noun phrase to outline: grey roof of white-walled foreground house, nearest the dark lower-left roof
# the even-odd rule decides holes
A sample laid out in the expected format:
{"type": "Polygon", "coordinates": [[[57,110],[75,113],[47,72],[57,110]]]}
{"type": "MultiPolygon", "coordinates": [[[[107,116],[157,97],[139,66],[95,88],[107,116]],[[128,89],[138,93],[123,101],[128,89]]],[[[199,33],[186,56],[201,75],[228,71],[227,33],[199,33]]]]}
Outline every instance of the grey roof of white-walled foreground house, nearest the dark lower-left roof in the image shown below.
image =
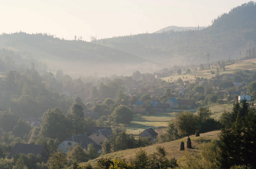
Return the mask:
{"type": "Polygon", "coordinates": [[[75,135],[75,136],[71,136],[69,138],[67,138],[65,141],[75,141],[75,143],[79,143],[82,148],[86,149],[87,150],[87,146],[89,144],[92,144],[93,147],[96,149],[96,150],[99,150],[100,149],[100,146],[97,145],[95,143],[95,141],[93,141],[90,137],[88,137],[87,135],[75,135]]]}

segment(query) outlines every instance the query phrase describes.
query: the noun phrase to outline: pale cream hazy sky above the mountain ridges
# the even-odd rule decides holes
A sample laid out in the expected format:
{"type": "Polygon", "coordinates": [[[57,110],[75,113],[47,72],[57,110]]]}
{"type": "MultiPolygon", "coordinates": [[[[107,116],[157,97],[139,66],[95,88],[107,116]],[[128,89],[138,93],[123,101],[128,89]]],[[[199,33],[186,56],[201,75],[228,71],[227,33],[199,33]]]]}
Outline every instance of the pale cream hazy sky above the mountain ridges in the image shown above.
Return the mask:
{"type": "Polygon", "coordinates": [[[208,26],[244,0],[0,0],[0,33],[75,35],[90,41],[153,33],[167,26],[208,26]]]}

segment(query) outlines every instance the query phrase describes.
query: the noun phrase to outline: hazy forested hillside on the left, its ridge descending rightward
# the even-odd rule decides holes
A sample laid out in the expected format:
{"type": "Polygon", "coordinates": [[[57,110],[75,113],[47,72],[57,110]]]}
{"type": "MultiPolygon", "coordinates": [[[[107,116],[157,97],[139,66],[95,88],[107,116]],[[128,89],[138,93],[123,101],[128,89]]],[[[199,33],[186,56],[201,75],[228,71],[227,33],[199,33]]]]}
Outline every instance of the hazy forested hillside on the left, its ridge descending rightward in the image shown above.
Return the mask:
{"type": "Polygon", "coordinates": [[[23,58],[42,61],[53,72],[62,69],[69,74],[76,72],[76,75],[112,75],[126,73],[128,68],[132,69],[131,74],[138,70],[140,64],[149,63],[139,56],[110,47],[82,40],[66,41],[48,34],[2,34],[0,48],[14,51],[23,58]]]}

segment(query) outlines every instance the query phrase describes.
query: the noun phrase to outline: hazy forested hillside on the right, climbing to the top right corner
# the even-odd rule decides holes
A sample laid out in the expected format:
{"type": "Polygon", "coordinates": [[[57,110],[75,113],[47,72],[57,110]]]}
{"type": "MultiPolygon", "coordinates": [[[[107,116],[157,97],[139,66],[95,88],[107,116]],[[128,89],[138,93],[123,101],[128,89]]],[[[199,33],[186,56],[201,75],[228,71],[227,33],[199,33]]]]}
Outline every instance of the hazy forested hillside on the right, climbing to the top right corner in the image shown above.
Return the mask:
{"type": "Polygon", "coordinates": [[[256,46],[256,5],[246,3],[213,20],[203,30],[139,34],[95,43],[151,59],[165,66],[237,59],[256,46]]]}

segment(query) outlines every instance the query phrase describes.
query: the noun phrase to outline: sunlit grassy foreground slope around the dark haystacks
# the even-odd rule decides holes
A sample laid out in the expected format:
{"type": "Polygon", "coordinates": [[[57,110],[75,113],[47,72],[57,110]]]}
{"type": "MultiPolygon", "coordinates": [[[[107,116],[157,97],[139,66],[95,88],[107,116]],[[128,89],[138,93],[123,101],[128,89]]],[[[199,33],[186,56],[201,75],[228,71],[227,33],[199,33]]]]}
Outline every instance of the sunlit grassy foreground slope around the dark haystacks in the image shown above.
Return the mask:
{"type": "MultiPolygon", "coordinates": [[[[180,143],[181,143],[181,141],[184,141],[185,147],[186,147],[187,137],[184,137],[179,140],[163,143],[163,144],[153,144],[151,146],[147,146],[142,149],[145,150],[147,152],[147,154],[152,154],[153,152],[156,151],[157,146],[163,146],[165,148],[165,150],[167,151],[167,158],[176,158],[178,160],[182,157],[182,155],[185,154],[186,151],[188,151],[190,153],[198,152],[199,145],[202,143],[206,143],[211,140],[219,140],[217,137],[219,132],[220,131],[207,132],[205,134],[200,134],[200,137],[195,137],[195,136],[191,135],[190,139],[191,139],[193,148],[192,149],[185,148],[185,151],[180,151],[180,143]]],[[[119,152],[101,155],[99,158],[110,158],[110,159],[125,158],[129,161],[129,159],[135,157],[135,155],[136,155],[135,152],[137,152],[139,149],[140,148],[127,149],[127,150],[123,150],[123,151],[119,151],[119,152]]],[[[89,163],[95,164],[97,162],[97,159],[99,159],[99,158],[93,159],[93,160],[89,161],[89,163]]]]}

